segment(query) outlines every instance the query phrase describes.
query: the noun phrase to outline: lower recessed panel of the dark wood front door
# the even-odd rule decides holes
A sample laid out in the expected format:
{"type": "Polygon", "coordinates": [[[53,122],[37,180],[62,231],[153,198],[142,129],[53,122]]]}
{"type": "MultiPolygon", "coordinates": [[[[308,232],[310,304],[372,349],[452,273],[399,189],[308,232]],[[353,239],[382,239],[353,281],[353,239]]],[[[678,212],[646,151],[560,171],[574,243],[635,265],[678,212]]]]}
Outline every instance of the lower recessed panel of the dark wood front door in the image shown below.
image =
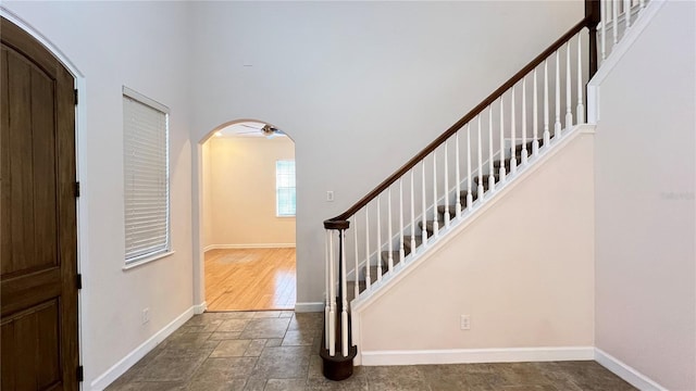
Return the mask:
{"type": "Polygon", "coordinates": [[[2,320],[3,390],[46,390],[61,382],[59,303],[50,300],[2,320]]]}

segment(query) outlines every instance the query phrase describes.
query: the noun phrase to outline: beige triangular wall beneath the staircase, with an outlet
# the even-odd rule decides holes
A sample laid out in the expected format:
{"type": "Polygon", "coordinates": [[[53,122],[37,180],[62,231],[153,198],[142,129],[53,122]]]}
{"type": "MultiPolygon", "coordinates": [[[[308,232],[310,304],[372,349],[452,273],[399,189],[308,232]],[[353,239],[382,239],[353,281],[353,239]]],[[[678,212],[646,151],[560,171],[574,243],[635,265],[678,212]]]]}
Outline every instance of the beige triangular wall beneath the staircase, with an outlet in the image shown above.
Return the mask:
{"type": "Polygon", "coordinates": [[[359,308],[361,351],[592,346],[592,163],[579,135],[359,308]]]}

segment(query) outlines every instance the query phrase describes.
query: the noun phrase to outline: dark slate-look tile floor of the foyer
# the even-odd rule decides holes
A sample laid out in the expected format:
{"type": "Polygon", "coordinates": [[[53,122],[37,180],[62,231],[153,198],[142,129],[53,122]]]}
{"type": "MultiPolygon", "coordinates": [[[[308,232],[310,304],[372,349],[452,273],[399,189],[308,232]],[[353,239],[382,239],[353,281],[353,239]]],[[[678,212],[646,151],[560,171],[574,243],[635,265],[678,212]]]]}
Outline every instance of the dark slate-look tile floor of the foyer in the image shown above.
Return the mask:
{"type": "Polygon", "coordinates": [[[331,381],[318,354],[322,315],[194,316],[107,390],[634,390],[595,362],[356,367],[351,378],[331,381]]]}

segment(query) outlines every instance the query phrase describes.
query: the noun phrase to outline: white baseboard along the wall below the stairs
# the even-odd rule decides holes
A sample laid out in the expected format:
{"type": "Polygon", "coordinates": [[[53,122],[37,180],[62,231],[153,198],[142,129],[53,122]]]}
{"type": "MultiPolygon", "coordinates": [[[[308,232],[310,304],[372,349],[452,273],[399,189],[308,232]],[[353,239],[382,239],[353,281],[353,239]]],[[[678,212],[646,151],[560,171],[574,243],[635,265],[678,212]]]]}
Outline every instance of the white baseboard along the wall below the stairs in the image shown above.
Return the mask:
{"type": "Polygon", "coordinates": [[[588,361],[595,357],[595,349],[561,346],[374,351],[361,352],[361,363],[365,366],[588,361]]]}

